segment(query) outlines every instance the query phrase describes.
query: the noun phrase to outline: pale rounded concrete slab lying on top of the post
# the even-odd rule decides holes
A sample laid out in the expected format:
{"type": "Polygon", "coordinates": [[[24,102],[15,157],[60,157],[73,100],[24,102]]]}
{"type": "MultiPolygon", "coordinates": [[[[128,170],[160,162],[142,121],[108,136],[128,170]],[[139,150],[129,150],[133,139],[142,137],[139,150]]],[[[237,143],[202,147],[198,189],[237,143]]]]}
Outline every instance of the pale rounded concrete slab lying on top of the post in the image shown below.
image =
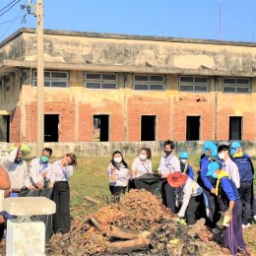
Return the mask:
{"type": "Polygon", "coordinates": [[[10,197],[4,200],[3,210],[16,216],[52,215],[56,205],[45,197],[10,197]]]}

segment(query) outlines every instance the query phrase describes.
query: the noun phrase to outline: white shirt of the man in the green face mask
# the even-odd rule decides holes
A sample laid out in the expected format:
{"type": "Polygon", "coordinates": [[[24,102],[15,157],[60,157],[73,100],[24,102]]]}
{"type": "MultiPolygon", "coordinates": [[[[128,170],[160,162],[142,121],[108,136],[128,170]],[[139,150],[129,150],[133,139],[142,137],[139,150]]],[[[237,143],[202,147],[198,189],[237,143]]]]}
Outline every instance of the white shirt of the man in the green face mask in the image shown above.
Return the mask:
{"type": "Polygon", "coordinates": [[[32,184],[36,185],[38,182],[43,186],[44,179],[41,176],[42,173],[46,173],[45,180],[49,180],[51,176],[51,163],[43,163],[40,158],[33,159],[30,164],[30,176],[32,184]]]}

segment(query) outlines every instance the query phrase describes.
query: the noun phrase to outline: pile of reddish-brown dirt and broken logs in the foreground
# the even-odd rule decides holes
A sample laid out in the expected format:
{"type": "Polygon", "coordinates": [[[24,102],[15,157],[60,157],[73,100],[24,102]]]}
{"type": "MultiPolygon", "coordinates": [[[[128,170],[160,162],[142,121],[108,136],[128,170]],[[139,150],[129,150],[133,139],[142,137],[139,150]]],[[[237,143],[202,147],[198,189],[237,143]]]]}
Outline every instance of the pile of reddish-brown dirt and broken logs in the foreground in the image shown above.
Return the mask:
{"type": "Polygon", "coordinates": [[[178,224],[158,197],[132,190],[119,203],[75,218],[70,233],[52,236],[46,254],[224,255],[216,239],[203,220],[192,226],[178,224]]]}

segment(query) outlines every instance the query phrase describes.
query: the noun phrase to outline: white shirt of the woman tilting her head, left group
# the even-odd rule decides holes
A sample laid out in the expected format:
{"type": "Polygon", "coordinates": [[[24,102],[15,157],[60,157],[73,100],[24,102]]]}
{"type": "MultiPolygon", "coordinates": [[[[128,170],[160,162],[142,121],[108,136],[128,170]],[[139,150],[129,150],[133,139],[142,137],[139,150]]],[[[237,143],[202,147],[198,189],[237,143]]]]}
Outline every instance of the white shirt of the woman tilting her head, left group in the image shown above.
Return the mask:
{"type": "Polygon", "coordinates": [[[61,166],[61,160],[55,160],[51,166],[50,183],[69,181],[73,174],[73,165],[61,166]]]}

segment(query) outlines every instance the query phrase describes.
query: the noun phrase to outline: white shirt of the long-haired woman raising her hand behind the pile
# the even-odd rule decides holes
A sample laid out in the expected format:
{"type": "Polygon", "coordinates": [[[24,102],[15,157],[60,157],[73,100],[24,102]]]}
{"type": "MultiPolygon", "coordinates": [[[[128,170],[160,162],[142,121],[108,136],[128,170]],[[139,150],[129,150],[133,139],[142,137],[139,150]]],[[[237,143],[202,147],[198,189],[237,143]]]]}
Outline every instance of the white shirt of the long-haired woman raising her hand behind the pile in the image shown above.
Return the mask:
{"type": "Polygon", "coordinates": [[[113,170],[111,167],[113,166],[112,163],[110,162],[108,167],[107,167],[107,174],[108,174],[108,179],[109,179],[109,185],[110,186],[120,186],[120,187],[126,187],[128,185],[128,179],[129,179],[129,169],[125,167],[122,163],[117,164],[119,169],[115,169],[115,175],[116,175],[116,180],[115,182],[112,182],[110,180],[110,176],[113,173],[113,170]]]}

